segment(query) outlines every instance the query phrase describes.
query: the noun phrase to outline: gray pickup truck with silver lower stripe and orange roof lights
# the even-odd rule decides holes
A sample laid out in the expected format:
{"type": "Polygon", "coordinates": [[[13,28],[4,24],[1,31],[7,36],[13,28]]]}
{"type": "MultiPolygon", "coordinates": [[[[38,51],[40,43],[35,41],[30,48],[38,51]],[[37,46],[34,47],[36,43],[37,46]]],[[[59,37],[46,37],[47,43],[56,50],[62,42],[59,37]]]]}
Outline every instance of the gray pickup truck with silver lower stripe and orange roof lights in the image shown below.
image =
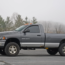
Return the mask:
{"type": "Polygon", "coordinates": [[[14,31],[0,32],[0,54],[18,55],[21,49],[46,49],[50,55],[65,56],[65,34],[46,34],[41,24],[22,25],[14,31]]]}

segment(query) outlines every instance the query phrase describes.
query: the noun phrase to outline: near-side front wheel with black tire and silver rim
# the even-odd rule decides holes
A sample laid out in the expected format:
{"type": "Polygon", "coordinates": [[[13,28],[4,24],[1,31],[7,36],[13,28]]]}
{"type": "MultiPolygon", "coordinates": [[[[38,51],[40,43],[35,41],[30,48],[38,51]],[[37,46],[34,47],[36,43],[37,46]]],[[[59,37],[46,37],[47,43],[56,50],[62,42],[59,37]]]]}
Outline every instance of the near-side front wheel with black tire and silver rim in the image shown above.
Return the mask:
{"type": "Polygon", "coordinates": [[[5,47],[5,53],[6,53],[7,56],[17,56],[19,51],[20,51],[20,47],[15,42],[10,42],[5,47]],[[16,50],[12,50],[13,46],[15,47],[16,50]],[[14,51],[15,51],[15,53],[14,53],[14,51]]]}

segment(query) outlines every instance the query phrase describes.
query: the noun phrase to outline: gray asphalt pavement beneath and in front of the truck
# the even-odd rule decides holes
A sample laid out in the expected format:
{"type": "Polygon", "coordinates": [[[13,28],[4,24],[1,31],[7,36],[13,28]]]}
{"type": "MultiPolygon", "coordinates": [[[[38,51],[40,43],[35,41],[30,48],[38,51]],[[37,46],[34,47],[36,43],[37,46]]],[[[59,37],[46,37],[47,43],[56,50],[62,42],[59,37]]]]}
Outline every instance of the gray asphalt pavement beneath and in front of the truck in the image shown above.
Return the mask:
{"type": "Polygon", "coordinates": [[[65,57],[50,56],[43,49],[21,50],[16,57],[0,55],[0,65],[65,65],[65,57]]]}

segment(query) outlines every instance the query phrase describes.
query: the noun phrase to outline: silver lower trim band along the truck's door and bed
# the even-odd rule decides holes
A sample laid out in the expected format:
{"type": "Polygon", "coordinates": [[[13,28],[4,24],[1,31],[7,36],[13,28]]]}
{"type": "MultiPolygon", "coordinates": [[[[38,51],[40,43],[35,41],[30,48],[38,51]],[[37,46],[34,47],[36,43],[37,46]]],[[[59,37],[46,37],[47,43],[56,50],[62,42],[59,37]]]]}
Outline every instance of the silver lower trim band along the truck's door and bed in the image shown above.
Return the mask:
{"type": "Polygon", "coordinates": [[[21,42],[21,47],[59,47],[60,43],[21,42]]]}

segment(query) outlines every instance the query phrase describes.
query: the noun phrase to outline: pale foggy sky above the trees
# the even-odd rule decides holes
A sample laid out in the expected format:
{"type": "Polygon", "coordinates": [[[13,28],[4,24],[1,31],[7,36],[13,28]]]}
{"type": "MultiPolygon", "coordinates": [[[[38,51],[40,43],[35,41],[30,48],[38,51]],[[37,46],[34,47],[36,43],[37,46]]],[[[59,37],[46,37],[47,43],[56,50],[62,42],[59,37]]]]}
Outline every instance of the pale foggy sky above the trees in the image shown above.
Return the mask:
{"type": "Polygon", "coordinates": [[[15,12],[22,18],[64,23],[65,0],[0,0],[0,15],[4,19],[15,12]]]}

